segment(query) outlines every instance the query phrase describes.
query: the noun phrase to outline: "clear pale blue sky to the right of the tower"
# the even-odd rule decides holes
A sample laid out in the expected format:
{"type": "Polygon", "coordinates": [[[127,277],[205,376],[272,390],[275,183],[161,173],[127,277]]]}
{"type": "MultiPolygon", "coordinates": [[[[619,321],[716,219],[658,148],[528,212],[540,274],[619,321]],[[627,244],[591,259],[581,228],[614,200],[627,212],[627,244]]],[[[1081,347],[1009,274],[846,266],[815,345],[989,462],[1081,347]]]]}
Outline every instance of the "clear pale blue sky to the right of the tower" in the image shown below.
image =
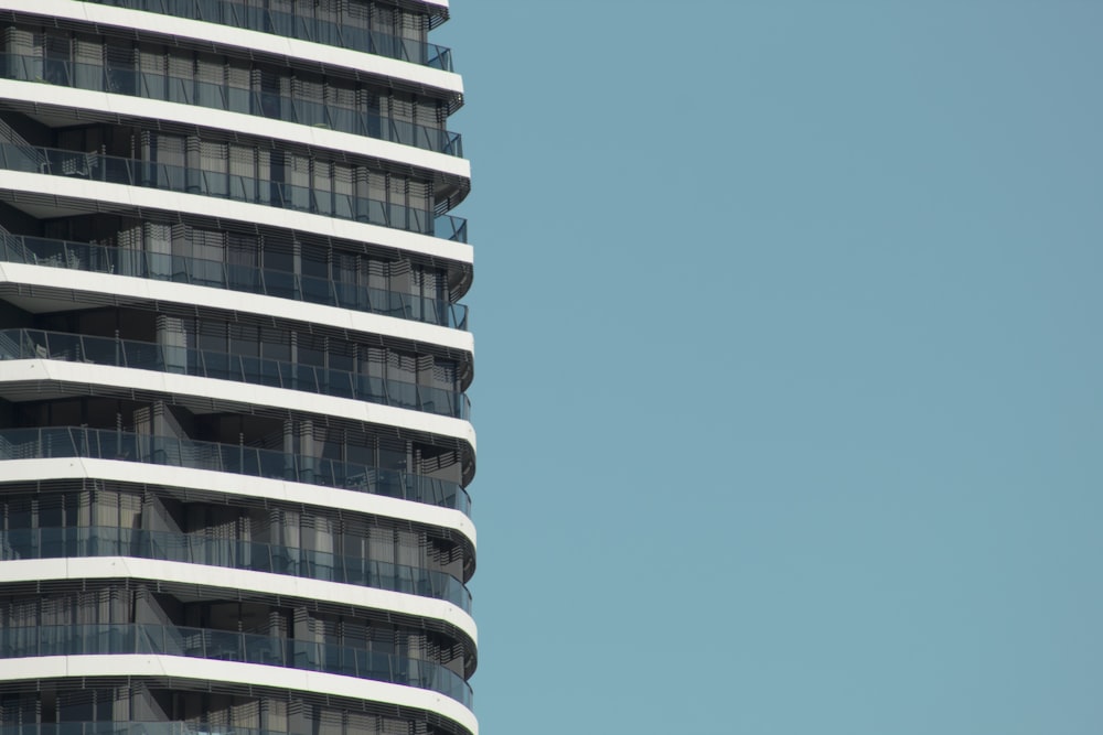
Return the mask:
{"type": "Polygon", "coordinates": [[[484,735],[1103,732],[1103,2],[452,14],[484,735]]]}

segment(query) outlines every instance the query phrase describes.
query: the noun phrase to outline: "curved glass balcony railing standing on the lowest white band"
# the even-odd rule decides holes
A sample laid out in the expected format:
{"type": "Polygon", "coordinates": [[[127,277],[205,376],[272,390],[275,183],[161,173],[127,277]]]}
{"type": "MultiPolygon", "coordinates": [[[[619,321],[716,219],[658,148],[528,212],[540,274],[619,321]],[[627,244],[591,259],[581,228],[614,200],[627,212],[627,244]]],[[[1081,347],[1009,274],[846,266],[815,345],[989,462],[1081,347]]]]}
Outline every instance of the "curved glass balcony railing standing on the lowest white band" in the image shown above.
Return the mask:
{"type": "Polygon", "coordinates": [[[142,624],[0,628],[0,658],[126,653],[240,661],[386,681],[440,692],[468,707],[472,699],[463,677],[439,663],[352,646],[142,624]]]}

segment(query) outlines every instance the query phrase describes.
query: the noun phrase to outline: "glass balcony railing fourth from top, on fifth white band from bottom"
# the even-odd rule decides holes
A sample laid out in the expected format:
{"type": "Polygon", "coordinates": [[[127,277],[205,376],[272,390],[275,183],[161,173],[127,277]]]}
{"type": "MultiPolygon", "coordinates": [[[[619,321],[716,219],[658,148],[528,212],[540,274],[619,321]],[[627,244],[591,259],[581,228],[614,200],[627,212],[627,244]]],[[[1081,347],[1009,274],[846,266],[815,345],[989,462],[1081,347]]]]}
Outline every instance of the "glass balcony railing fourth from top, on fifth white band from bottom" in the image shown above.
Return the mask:
{"type": "Polygon", "coordinates": [[[7,262],[71,268],[95,273],[118,273],[156,281],[258,293],[383,314],[453,329],[468,328],[468,307],[463,304],[301,273],[253,266],[232,266],[221,260],[3,233],[0,233],[0,259],[7,262]]]}

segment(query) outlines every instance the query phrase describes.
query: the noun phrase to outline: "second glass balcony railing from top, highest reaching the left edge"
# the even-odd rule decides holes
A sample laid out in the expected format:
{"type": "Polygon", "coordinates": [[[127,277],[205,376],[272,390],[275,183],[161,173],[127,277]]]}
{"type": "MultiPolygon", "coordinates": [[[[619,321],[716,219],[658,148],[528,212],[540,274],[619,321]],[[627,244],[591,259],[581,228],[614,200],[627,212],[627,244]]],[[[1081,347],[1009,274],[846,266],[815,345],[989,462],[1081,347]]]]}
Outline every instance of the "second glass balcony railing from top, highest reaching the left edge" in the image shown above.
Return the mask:
{"type": "Polygon", "coordinates": [[[196,105],[350,132],[437,153],[463,156],[463,143],[459,133],[368,115],[336,105],[253,91],[228,84],[201,82],[191,76],[135,72],[99,64],[54,61],[41,56],[0,54],[0,64],[3,77],[8,79],[41,82],[62,87],[196,105]]]}

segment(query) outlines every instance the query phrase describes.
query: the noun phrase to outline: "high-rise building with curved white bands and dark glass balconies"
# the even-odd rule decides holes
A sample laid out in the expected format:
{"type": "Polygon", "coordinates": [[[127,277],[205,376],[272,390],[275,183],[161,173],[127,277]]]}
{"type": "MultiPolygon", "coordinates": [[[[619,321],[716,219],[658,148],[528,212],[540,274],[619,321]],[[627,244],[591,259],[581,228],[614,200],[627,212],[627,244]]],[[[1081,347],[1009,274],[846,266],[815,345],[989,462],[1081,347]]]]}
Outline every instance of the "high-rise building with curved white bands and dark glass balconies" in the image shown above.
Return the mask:
{"type": "Polygon", "coordinates": [[[475,735],[448,12],[0,2],[0,733],[475,735]]]}

